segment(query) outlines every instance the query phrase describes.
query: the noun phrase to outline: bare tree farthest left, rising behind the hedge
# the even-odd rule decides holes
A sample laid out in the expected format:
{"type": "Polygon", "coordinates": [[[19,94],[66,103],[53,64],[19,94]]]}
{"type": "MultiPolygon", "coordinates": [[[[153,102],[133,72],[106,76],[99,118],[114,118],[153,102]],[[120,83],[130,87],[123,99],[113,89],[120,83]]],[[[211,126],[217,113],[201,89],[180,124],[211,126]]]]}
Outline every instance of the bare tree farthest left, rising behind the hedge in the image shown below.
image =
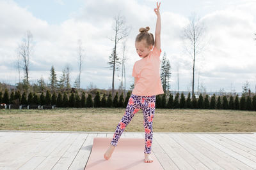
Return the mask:
{"type": "Polygon", "coordinates": [[[33,46],[33,36],[30,31],[26,32],[22,42],[19,45],[19,56],[23,62],[23,71],[24,71],[24,86],[26,89],[29,85],[29,58],[31,57],[31,50],[33,46]]]}

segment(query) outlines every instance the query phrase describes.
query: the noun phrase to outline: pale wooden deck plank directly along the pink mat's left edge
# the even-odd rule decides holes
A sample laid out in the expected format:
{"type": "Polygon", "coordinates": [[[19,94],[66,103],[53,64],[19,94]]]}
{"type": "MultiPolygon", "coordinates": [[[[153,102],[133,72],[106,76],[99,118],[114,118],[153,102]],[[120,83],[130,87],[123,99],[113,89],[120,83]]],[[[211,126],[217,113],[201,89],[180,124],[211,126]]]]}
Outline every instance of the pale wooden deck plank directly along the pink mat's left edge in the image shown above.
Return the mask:
{"type": "MultiPolygon", "coordinates": [[[[87,138],[84,140],[83,146],[80,148],[79,152],[76,155],[76,158],[73,160],[71,166],[68,169],[84,169],[92,151],[94,137],[97,137],[97,134],[89,134],[87,136],[87,138]]],[[[103,154],[104,153],[102,153],[102,157],[103,154]]]]}

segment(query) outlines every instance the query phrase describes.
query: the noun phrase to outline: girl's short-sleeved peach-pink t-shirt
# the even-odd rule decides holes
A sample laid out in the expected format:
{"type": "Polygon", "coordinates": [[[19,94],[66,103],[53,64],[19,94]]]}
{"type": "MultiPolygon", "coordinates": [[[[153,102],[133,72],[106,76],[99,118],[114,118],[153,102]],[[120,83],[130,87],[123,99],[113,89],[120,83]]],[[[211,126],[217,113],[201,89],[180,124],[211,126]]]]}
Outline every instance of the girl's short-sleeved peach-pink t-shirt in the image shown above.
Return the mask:
{"type": "Polygon", "coordinates": [[[135,83],[132,94],[153,96],[164,93],[159,73],[161,52],[161,49],[157,50],[154,46],[147,57],[134,63],[132,76],[138,77],[138,81],[135,83]]]}

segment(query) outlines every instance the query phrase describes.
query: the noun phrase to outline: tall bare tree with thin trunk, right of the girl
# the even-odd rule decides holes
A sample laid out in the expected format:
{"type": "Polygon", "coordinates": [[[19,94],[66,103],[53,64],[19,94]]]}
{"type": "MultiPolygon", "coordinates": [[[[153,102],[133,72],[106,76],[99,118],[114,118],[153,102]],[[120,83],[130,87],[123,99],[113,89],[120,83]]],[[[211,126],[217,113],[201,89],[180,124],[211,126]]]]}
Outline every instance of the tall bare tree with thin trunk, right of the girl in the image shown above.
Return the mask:
{"type": "Polygon", "coordinates": [[[188,26],[183,30],[182,38],[184,39],[184,47],[189,55],[193,58],[193,80],[192,80],[192,94],[194,93],[195,84],[195,60],[198,53],[200,53],[204,46],[202,43],[202,36],[204,34],[204,25],[200,22],[195,13],[191,15],[188,26]]]}

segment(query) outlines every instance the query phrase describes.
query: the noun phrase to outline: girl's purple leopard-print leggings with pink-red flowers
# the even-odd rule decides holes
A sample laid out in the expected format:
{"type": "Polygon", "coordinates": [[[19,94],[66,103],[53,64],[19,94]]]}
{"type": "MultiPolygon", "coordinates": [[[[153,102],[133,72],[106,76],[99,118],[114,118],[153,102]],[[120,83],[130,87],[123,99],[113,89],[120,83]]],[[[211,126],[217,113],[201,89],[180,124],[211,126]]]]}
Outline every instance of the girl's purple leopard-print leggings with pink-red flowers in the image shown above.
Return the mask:
{"type": "Polygon", "coordinates": [[[132,117],[140,109],[143,110],[145,127],[145,150],[144,153],[151,153],[153,139],[153,118],[155,113],[156,95],[154,96],[136,96],[131,94],[127,103],[124,117],[116,126],[116,131],[111,141],[111,145],[116,146],[125,127],[131,122],[132,117]]]}

